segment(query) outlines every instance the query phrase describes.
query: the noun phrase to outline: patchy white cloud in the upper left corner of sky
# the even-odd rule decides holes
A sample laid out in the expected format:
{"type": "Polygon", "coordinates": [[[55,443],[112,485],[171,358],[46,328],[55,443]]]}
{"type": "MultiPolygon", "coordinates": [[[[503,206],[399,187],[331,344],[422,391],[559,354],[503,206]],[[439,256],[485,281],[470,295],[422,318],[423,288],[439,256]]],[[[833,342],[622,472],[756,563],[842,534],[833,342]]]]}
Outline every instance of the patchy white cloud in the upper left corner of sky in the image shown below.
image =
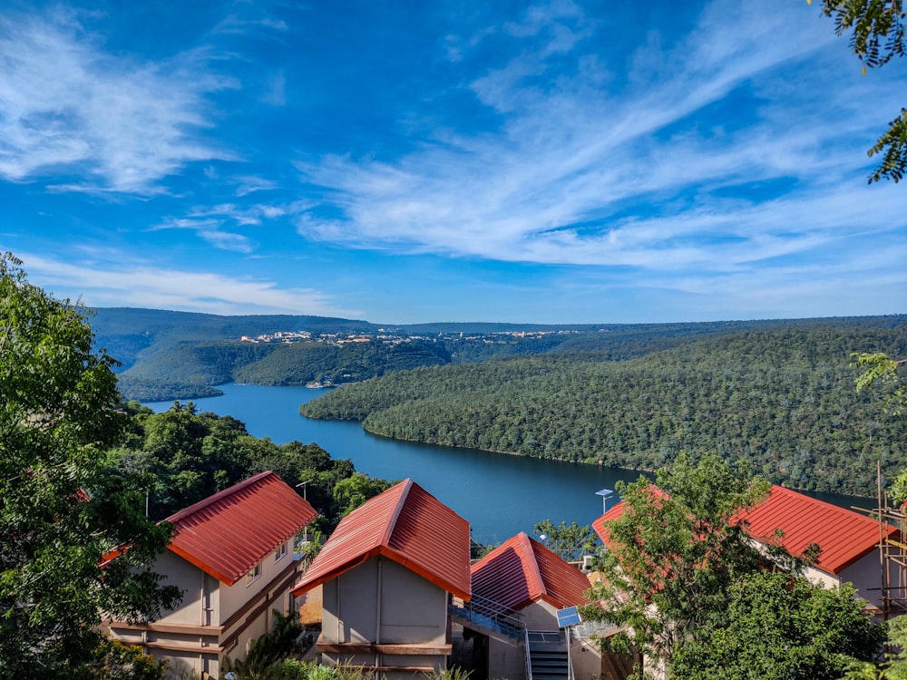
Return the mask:
{"type": "Polygon", "coordinates": [[[235,87],[203,50],[143,63],[106,53],[74,10],[0,17],[0,176],[78,178],[62,189],[151,194],[197,160],[234,154],[204,141],[206,95],[235,87]]]}

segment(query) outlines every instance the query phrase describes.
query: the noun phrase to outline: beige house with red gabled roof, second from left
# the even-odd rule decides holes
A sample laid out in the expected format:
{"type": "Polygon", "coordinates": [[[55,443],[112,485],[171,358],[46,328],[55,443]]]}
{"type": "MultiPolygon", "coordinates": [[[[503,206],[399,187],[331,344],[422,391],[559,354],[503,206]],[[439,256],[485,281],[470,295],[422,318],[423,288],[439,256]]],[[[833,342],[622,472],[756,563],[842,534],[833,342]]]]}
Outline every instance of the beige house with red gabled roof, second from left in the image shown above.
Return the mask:
{"type": "Polygon", "coordinates": [[[318,586],[323,663],[388,680],[442,670],[451,599],[471,597],[469,524],[402,481],[340,520],[292,592],[318,586]]]}

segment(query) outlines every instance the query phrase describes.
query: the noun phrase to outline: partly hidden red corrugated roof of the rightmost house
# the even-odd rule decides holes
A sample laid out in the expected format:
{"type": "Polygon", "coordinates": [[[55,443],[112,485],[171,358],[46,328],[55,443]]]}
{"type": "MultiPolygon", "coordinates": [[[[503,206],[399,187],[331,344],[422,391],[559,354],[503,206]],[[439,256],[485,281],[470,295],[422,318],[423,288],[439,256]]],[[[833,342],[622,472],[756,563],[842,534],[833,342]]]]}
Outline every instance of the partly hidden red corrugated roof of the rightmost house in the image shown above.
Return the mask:
{"type": "MultiPolygon", "coordinates": [[[[606,545],[605,523],[619,519],[622,514],[623,501],[620,501],[592,522],[592,528],[606,545]]],[[[777,485],[771,488],[766,500],[740,513],[739,518],[747,522],[746,533],[762,542],[776,540],[775,529],[781,529],[784,539],[779,543],[791,555],[802,555],[810,544],[816,543],[821,552],[815,567],[829,574],[841,573],[872,552],[879,542],[877,520],[777,485]]],[[[884,524],[883,532],[888,537],[897,533],[897,529],[884,524]]]]}

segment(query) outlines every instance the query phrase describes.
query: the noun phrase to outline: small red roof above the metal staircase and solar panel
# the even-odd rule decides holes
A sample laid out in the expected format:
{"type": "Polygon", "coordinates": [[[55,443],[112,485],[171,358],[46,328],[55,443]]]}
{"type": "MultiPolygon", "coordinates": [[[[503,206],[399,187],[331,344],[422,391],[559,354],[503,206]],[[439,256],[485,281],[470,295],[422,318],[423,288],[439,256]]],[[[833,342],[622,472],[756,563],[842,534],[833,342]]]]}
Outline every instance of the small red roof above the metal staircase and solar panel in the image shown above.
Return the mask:
{"type": "Polygon", "coordinates": [[[589,580],[525,533],[473,564],[473,595],[519,610],[543,600],[562,609],[588,602],[589,580]]]}

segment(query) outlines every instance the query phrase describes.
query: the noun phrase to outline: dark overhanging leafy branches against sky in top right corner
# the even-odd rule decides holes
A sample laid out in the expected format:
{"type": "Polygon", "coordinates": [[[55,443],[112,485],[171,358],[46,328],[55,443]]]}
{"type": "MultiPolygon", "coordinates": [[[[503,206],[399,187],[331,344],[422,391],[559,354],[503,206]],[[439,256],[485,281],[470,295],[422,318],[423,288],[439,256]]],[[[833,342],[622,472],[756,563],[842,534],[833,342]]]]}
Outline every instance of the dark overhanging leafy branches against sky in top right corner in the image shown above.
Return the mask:
{"type": "MultiPolygon", "coordinates": [[[[834,17],[835,33],[851,33],[851,50],[863,62],[863,73],[904,55],[907,14],[903,0],[823,0],[822,11],[834,17]]],[[[888,123],[888,130],[867,153],[883,154],[870,182],[883,177],[901,180],[907,170],[907,109],[902,108],[888,123]]]]}

